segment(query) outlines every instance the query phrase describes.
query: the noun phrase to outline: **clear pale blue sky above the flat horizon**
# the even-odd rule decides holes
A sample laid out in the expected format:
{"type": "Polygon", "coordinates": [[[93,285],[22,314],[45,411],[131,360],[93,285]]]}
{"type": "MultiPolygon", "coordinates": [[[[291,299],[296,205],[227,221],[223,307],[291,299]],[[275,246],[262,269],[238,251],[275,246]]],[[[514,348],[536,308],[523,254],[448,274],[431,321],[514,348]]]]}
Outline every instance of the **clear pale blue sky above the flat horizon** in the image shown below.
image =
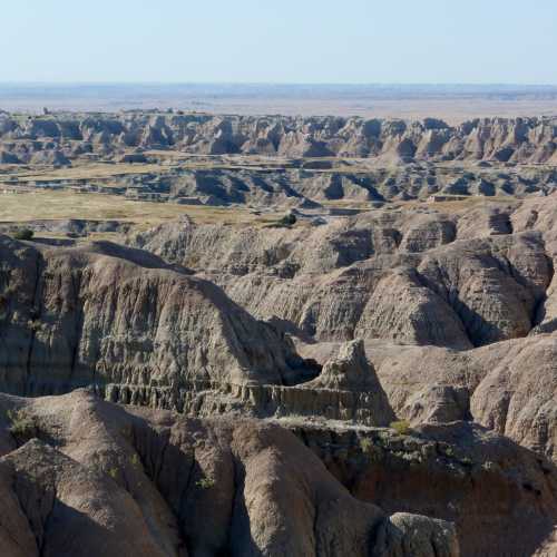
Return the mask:
{"type": "Polygon", "coordinates": [[[557,84],[557,0],[3,0],[0,81],[557,84]]]}

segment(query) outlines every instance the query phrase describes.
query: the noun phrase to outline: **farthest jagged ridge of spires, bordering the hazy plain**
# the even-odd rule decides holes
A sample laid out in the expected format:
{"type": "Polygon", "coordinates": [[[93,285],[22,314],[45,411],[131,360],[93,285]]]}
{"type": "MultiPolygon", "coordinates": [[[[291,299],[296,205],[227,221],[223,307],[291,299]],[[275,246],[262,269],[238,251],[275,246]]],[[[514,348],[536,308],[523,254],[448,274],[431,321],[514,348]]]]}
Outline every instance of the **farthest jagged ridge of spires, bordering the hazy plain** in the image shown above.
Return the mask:
{"type": "Polygon", "coordinates": [[[556,162],[551,118],[492,118],[450,127],[424,119],[208,115],[0,115],[3,157],[65,164],[67,157],[124,147],[174,147],[192,154],[370,157],[408,160],[556,162]]]}

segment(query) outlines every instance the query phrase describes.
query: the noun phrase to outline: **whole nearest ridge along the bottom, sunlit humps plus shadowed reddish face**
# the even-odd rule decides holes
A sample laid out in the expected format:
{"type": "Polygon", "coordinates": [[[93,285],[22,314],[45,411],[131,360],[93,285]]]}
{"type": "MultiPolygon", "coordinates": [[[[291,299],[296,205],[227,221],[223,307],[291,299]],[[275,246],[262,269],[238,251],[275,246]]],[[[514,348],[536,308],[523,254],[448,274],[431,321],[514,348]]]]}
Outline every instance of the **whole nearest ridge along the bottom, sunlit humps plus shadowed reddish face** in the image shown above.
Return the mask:
{"type": "Polygon", "coordinates": [[[2,395],[0,416],[0,543],[14,556],[554,548],[555,467],[465,423],[410,436],[291,423],[299,440],[265,421],[189,419],[86,391],[2,395]]]}

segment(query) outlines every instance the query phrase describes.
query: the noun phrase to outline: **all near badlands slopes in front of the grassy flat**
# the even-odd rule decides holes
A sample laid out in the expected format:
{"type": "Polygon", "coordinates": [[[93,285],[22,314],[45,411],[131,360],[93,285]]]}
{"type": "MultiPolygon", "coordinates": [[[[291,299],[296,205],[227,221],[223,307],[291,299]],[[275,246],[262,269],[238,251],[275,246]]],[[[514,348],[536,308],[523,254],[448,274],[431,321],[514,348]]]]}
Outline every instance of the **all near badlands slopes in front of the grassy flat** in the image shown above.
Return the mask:
{"type": "Polygon", "coordinates": [[[0,235],[0,553],[554,555],[556,202],[0,235]]]}

